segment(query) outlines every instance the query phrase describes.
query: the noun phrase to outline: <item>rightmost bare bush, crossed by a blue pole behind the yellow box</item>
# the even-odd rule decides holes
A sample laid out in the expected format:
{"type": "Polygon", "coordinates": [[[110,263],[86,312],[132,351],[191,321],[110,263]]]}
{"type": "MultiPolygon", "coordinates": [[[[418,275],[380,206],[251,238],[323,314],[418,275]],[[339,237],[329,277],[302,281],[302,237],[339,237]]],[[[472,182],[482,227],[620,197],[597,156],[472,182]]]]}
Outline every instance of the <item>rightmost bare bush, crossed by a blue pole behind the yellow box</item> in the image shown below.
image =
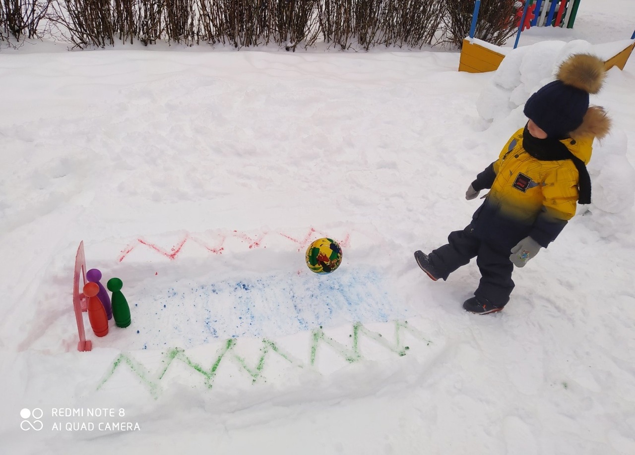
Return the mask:
{"type": "MultiPolygon", "coordinates": [[[[445,0],[446,43],[457,48],[469,36],[475,0],[445,0]]],[[[514,0],[482,0],[474,37],[502,46],[516,32],[514,0]]]]}

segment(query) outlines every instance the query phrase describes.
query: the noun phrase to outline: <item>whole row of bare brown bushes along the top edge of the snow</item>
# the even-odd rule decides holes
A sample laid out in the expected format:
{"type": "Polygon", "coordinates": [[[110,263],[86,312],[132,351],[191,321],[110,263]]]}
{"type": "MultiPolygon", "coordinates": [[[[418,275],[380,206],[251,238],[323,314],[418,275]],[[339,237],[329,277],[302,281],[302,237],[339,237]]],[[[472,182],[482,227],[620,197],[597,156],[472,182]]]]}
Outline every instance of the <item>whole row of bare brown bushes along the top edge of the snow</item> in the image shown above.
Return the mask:
{"type": "MultiPolygon", "coordinates": [[[[0,39],[35,37],[44,19],[79,48],[136,39],[295,51],[320,36],[338,49],[439,39],[460,48],[473,8],[474,0],[0,0],[0,39]]],[[[514,13],[514,0],[483,0],[476,36],[503,44],[516,30],[514,13]]]]}

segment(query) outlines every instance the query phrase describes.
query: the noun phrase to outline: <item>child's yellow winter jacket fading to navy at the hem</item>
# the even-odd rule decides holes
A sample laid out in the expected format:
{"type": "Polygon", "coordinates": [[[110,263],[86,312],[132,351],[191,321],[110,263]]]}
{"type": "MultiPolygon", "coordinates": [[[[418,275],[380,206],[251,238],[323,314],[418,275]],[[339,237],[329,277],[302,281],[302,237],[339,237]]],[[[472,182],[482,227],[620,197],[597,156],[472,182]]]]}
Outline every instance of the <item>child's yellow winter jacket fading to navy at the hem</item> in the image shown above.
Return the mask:
{"type": "MultiPolygon", "coordinates": [[[[571,159],[542,161],[523,148],[519,129],[505,144],[497,161],[472,182],[475,190],[491,188],[472,217],[476,235],[501,251],[509,251],[531,236],[546,247],[575,214],[578,170],[571,159]]],[[[560,141],[587,164],[593,136],[560,141]]]]}

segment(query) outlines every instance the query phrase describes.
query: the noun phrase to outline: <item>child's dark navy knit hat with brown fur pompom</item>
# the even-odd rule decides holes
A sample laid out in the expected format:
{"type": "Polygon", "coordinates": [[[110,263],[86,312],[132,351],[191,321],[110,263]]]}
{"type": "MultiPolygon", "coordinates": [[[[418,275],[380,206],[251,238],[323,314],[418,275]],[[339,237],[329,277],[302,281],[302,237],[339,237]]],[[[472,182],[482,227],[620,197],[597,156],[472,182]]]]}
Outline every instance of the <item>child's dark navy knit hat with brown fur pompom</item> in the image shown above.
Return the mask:
{"type": "Polygon", "coordinates": [[[575,54],[560,65],[556,81],[530,96],[525,115],[547,136],[566,138],[577,129],[589,109],[589,93],[598,93],[605,79],[604,62],[589,54],[575,54]]]}

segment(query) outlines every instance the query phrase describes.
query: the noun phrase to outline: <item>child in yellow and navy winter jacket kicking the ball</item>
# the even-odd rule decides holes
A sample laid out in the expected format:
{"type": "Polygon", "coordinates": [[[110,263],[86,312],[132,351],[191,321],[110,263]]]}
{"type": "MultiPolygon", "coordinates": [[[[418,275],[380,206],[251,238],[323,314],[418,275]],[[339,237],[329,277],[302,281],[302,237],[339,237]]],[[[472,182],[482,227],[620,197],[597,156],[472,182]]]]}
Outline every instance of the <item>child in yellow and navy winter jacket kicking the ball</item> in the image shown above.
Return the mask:
{"type": "Polygon", "coordinates": [[[514,289],[514,265],[525,266],[554,241],[577,202],[591,202],[586,164],[594,138],[608,133],[610,121],[604,109],[589,106],[589,93],[598,93],[604,78],[604,62],[596,56],[570,56],[556,81],[527,100],[525,128],[465,193],[470,200],[490,188],[471,223],[451,232],[448,244],[430,254],[415,252],[419,267],[435,281],[476,257],[481,280],[474,297],[463,303],[465,310],[502,310],[514,289]]]}

